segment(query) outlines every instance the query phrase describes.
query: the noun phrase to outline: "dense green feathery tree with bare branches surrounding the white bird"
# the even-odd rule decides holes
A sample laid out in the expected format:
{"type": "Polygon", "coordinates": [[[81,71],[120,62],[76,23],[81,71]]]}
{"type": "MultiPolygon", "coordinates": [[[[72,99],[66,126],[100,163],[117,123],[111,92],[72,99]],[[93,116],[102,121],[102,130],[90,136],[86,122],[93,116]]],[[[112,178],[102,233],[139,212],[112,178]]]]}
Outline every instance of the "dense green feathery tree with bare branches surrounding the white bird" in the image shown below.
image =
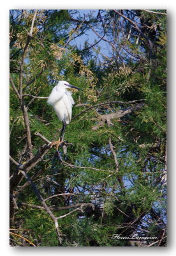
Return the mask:
{"type": "Polygon", "coordinates": [[[11,246],[166,246],[165,10],[10,10],[10,228],[11,246]],[[59,80],[82,90],[57,151],[59,80]]]}

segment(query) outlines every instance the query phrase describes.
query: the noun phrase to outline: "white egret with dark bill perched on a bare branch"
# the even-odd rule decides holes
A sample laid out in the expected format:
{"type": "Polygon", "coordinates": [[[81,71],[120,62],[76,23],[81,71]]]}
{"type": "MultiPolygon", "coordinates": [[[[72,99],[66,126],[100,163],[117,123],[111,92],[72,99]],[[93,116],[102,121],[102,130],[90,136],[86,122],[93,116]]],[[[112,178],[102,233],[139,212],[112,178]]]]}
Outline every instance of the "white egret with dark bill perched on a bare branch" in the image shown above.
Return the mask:
{"type": "Polygon", "coordinates": [[[59,81],[59,83],[52,89],[47,101],[48,104],[53,106],[57,117],[63,124],[59,140],[51,143],[51,147],[55,146],[57,149],[59,144],[64,140],[66,125],[71,121],[72,106],[75,104],[71,97],[71,92],[67,90],[69,88],[80,90],[80,88],[77,88],[66,81],[59,81]]]}

